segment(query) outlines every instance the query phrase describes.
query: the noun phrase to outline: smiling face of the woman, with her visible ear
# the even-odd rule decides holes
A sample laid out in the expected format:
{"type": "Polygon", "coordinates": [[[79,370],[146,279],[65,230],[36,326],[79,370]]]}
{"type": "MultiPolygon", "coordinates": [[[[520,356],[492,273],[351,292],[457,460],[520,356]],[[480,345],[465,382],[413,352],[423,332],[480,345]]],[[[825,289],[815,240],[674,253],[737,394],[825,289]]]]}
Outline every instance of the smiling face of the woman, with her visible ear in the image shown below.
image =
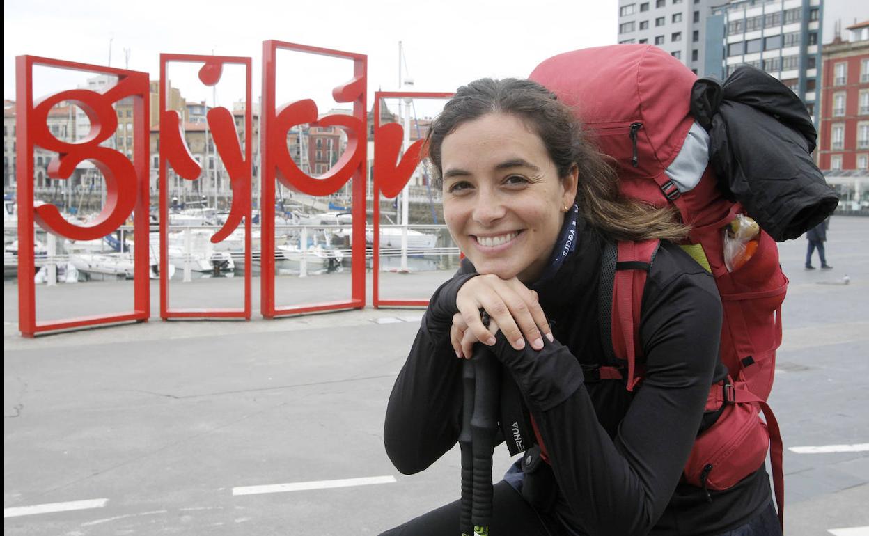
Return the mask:
{"type": "Polygon", "coordinates": [[[441,169],[444,219],[477,272],[535,281],[574,203],[575,168],[560,179],[540,136],[492,113],[444,138],[441,169]]]}

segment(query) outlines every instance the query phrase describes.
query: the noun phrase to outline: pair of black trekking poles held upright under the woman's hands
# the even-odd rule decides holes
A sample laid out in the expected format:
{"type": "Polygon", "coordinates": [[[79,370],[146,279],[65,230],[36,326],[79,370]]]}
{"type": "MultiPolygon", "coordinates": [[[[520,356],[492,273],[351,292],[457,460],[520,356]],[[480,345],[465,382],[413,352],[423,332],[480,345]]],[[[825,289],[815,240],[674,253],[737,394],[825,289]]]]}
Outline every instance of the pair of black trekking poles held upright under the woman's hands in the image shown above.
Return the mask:
{"type": "MultiPolygon", "coordinates": [[[[488,327],[488,314],[484,311],[481,316],[488,327]]],[[[492,521],[492,455],[498,430],[499,372],[494,355],[487,346],[478,343],[462,374],[465,399],[459,442],[463,535],[470,536],[473,525],[473,534],[488,536],[492,521]]]]}

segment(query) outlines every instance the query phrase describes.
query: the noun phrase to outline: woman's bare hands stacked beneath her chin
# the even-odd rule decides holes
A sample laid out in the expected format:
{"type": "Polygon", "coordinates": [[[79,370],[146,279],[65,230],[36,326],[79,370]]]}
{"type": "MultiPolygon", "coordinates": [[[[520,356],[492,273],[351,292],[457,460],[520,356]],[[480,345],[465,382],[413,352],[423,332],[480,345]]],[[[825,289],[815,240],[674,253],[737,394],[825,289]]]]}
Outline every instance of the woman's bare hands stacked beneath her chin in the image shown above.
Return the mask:
{"type": "Polygon", "coordinates": [[[459,312],[453,316],[449,338],[458,357],[470,359],[478,341],[492,346],[499,328],[517,350],[525,347],[525,339],[535,350],[543,347],[542,336],[553,341],[537,293],[515,277],[509,280],[497,275],[473,277],[461,286],[455,304],[459,312]],[[483,326],[480,309],[491,319],[489,328],[483,326]]]}

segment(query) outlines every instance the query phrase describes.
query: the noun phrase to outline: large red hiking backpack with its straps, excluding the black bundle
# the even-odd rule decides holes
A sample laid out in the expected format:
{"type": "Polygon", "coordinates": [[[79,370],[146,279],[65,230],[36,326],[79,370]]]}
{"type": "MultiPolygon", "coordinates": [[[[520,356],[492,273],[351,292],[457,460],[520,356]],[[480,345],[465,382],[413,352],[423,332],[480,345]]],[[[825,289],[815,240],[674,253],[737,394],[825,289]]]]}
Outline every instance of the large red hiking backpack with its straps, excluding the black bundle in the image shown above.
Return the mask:
{"type": "MultiPolygon", "coordinates": [[[[763,230],[752,258],[733,271],[726,268],[722,229],[744,211],[721,194],[707,165],[706,132],[690,115],[697,77],[660,48],[613,45],[554,56],[530,78],[574,109],[601,152],[617,161],[625,195],[679,209],[692,228],[682,248],[715,278],[724,308],[720,360],[729,376],[711,387],[706,411],[721,413],[694,442],[683,480],[706,490],[726,489],[756,471],[769,450],[783,519],[782,441],[766,399],[781,342],[787,278],[776,243],[763,230]],[[693,180],[685,180],[692,170],[693,180]]],[[[628,390],[642,380],[640,301],[658,245],[620,242],[604,252],[601,274],[612,282],[601,281],[600,306],[612,314],[601,326],[610,331],[603,336],[612,341],[615,357],[627,361],[627,378],[610,367],[601,367],[600,377],[625,380],[628,390]]]]}

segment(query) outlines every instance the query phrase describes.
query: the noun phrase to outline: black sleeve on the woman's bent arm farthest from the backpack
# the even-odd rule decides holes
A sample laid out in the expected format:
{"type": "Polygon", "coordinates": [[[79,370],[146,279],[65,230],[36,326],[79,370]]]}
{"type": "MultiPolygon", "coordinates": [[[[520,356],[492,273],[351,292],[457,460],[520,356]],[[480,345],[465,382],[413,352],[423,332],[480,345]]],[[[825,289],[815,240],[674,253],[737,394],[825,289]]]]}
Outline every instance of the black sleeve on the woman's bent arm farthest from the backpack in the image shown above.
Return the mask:
{"type": "Polygon", "coordinates": [[[449,342],[449,328],[458,312],[456,294],[474,275],[473,267],[464,263],[434,292],[389,396],[383,442],[401,473],[426,469],[459,439],[463,360],[449,342]]]}

